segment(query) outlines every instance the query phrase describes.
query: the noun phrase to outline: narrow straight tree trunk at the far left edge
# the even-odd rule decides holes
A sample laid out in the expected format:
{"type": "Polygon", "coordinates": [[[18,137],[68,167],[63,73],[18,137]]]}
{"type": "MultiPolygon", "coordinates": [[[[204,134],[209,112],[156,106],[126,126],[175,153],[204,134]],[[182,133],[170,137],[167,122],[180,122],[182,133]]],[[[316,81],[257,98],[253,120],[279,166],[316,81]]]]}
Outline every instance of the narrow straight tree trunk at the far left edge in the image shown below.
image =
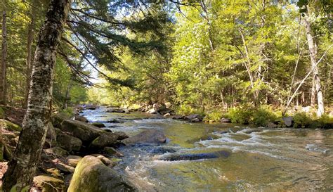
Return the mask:
{"type": "Polygon", "coordinates": [[[6,65],[7,65],[7,28],[6,11],[2,11],[2,54],[0,73],[0,103],[6,104],[6,65]]]}

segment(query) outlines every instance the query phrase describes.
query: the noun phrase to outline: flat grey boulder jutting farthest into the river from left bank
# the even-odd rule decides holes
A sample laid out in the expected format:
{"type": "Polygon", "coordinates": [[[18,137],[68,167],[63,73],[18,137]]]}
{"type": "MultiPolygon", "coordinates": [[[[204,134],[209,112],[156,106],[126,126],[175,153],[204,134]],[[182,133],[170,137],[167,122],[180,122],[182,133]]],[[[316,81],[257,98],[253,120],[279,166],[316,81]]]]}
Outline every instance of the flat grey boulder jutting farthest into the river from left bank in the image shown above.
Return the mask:
{"type": "Polygon", "coordinates": [[[124,139],[127,145],[136,143],[165,143],[166,137],[164,133],[157,129],[147,129],[140,134],[124,139]]]}

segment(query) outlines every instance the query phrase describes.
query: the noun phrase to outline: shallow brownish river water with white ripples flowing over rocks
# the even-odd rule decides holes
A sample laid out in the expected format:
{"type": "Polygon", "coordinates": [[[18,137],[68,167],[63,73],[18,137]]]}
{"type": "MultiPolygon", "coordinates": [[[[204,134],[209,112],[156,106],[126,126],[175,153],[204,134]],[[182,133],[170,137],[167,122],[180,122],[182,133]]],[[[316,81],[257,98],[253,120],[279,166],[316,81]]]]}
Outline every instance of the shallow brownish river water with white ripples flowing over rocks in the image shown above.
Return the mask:
{"type": "Polygon", "coordinates": [[[93,122],[135,135],[160,129],[168,142],[119,148],[115,167],[141,191],[333,191],[333,130],[261,129],[237,124],[188,123],[144,113],[86,110],[93,122]],[[163,150],[161,150],[163,149],[163,150]],[[202,160],[161,160],[170,155],[228,151],[202,160]]]}

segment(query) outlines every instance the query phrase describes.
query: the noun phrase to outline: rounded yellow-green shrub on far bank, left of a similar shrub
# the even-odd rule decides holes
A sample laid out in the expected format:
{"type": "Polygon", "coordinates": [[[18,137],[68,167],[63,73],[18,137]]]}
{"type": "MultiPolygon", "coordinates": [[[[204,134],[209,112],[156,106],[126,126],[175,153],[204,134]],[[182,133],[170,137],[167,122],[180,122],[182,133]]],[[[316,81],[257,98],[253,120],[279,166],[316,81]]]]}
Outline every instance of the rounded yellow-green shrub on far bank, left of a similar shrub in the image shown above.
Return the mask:
{"type": "Polygon", "coordinates": [[[253,106],[244,104],[238,107],[230,108],[226,116],[231,119],[231,122],[249,124],[249,122],[252,121],[253,113],[253,106]]]}

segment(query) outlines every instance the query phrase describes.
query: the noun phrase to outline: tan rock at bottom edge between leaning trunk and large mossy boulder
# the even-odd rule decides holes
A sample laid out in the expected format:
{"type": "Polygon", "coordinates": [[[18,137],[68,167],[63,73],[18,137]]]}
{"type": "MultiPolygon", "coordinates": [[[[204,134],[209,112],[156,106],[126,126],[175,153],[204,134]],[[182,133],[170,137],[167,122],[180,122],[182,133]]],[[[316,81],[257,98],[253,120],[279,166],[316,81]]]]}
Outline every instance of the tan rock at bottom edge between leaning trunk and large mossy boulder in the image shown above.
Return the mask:
{"type": "Polygon", "coordinates": [[[34,186],[47,192],[65,191],[64,181],[46,175],[34,177],[34,186]]]}

